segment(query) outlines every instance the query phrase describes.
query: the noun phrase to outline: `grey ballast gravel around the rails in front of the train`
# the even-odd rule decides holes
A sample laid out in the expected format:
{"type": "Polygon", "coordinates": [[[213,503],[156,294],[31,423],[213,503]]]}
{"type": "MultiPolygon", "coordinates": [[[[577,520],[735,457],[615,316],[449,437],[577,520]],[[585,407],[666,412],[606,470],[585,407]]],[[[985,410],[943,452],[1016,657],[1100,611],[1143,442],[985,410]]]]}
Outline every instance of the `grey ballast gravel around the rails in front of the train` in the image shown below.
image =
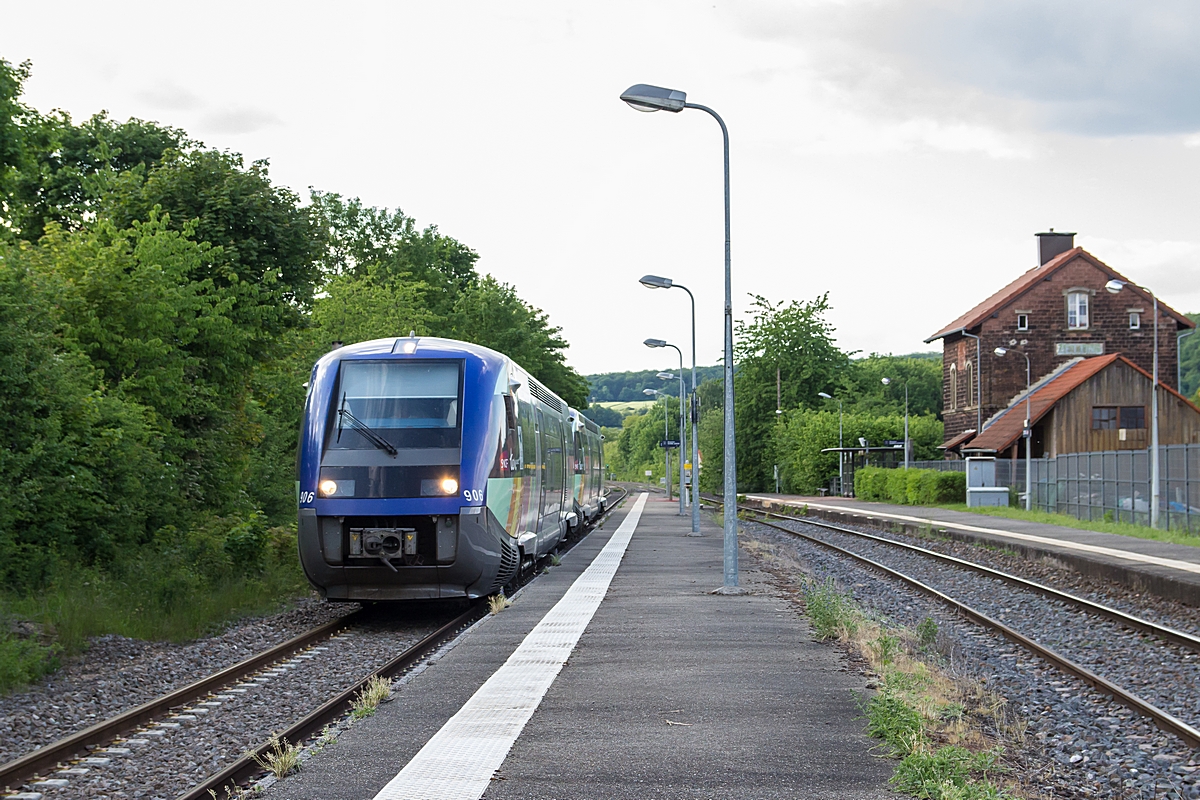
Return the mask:
{"type": "MultiPolygon", "coordinates": [[[[210,672],[221,669],[244,660],[252,652],[266,649],[310,627],[341,616],[356,606],[328,606],[305,603],[302,607],[264,620],[254,620],[235,626],[212,639],[202,639],[187,645],[173,646],[158,643],[127,642],[128,650],[116,649],[119,654],[133,656],[134,663],[121,663],[113,660],[113,648],[98,642],[96,648],[104,661],[90,662],[84,658],[66,672],[79,674],[56,674],[47,684],[25,692],[23,696],[6,698],[6,703],[24,698],[24,704],[7,716],[20,716],[23,710],[30,717],[32,726],[26,730],[36,730],[34,714],[42,717],[47,710],[56,712],[58,720],[84,718],[92,721],[86,714],[95,714],[96,720],[110,716],[122,708],[151,699],[166,691],[185,685],[210,672]],[[242,633],[238,638],[238,632],[242,633]],[[216,643],[216,650],[223,656],[210,654],[209,643],[216,643]],[[155,680],[155,664],[170,666],[170,675],[166,680],[155,680]],[[86,667],[85,667],[86,664],[86,667]],[[120,670],[125,672],[120,672],[120,670]],[[106,672],[110,670],[110,672],[106,672]],[[116,676],[114,676],[114,674],[116,676]],[[139,696],[128,702],[110,699],[108,703],[96,698],[110,698],[119,694],[125,675],[136,675],[130,681],[139,696]],[[107,675],[106,678],[101,678],[107,675]],[[67,681],[72,681],[67,684],[67,681]],[[67,697],[76,694],[92,698],[84,705],[83,712],[71,709],[71,703],[62,697],[55,697],[50,684],[59,687],[95,687],[92,691],[77,688],[67,697]],[[31,697],[36,697],[32,700],[31,697]],[[55,697],[54,703],[49,698],[55,697]],[[58,709],[53,706],[58,705],[58,709]],[[62,712],[70,709],[68,714],[62,712]]],[[[196,784],[226,765],[240,758],[247,750],[266,741],[274,733],[283,730],[299,717],[312,711],[336,693],[360,680],[364,675],[383,666],[396,655],[408,649],[425,636],[432,633],[446,619],[452,616],[445,609],[427,609],[406,612],[403,616],[391,615],[384,610],[374,613],[362,624],[355,625],[340,634],[324,640],[317,646],[296,654],[282,663],[271,664],[256,675],[224,687],[211,697],[204,698],[191,706],[179,709],[176,714],[145,726],[126,739],[91,752],[90,758],[80,758],[76,763],[65,764],[67,774],[52,771],[42,775],[40,781],[60,781],[66,778],[66,786],[37,786],[31,781],[23,788],[29,792],[47,792],[53,800],[73,798],[146,798],[170,799],[196,784]],[[80,771],[86,770],[86,771],[80,771]]],[[[108,638],[108,637],[106,637],[108,638]]],[[[89,650],[88,656],[94,655],[89,650]]],[[[166,670],[164,670],[166,672],[166,670]]],[[[61,721],[59,721],[61,724],[61,721]]],[[[70,728],[66,733],[74,730],[70,728]]],[[[37,738],[50,741],[64,735],[41,735],[37,738]]],[[[25,741],[35,736],[26,736],[25,741]]],[[[7,746],[7,740],[5,741],[7,746]]],[[[18,751],[16,754],[26,752],[18,751]]],[[[17,787],[11,787],[16,789],[17,787]]]]}

